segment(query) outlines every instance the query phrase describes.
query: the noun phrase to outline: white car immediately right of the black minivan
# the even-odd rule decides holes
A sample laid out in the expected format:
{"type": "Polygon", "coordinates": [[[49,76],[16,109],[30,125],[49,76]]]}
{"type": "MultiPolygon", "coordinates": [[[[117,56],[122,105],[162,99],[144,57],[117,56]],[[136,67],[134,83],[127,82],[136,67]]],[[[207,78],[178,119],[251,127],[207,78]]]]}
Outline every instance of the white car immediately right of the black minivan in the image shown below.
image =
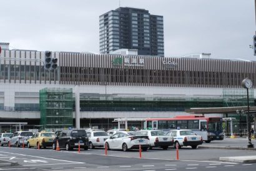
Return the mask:
{"type": "MultiPolygon", "coordinates": [[[[88,135],[88,134],[87,134],[88,135]]],[[[89,148],[94,149],[94,147],[104,147],[104,141],[109,139],[109,135],[105,131],[92,130],[89,134],[89,148]]]]}

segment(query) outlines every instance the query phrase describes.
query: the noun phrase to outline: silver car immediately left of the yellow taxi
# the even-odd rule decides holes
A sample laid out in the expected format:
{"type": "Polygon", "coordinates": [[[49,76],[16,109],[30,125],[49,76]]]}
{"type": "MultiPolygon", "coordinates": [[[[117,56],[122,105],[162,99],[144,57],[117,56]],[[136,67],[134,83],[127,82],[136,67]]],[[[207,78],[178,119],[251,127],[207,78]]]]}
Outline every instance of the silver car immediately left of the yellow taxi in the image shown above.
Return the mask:
{"type": "Polygon", "coordinates": [[[9,140],[10,145],[16,145],[16,147],[21,146],[23,143],[27,145],[27,140],[33,136],[31,131],[18,131],[12,134],[11,139],[9,140]]]}

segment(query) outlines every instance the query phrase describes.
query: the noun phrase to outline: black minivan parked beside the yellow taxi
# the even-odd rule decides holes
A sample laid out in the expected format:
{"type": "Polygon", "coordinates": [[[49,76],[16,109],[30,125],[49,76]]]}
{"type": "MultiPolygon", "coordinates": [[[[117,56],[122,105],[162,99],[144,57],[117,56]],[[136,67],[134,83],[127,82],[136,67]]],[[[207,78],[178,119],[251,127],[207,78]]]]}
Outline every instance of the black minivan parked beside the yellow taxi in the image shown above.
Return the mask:
{"type": "Polygon", "coordinates": [[[57,137],[53,140],[52,149],[56,150],[57,140],[59,142],[60,148],[65,148],[66,150],[72,150],[80,148],[88,150],[89,140],[86,134],[86,130],[63,130],[57,134],[57,137]]]}

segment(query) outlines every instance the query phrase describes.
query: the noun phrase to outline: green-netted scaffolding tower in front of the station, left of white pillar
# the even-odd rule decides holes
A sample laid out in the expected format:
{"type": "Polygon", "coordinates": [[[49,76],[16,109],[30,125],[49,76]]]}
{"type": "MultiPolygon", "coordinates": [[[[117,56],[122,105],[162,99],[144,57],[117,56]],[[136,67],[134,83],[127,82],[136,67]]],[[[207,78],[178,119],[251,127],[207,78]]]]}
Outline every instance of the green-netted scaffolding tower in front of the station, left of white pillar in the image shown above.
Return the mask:
{"type": "Polygon", "coordinates": [[[39,94],[42,129],[73,127],[72,89],[45,88],[39,94]]]}

